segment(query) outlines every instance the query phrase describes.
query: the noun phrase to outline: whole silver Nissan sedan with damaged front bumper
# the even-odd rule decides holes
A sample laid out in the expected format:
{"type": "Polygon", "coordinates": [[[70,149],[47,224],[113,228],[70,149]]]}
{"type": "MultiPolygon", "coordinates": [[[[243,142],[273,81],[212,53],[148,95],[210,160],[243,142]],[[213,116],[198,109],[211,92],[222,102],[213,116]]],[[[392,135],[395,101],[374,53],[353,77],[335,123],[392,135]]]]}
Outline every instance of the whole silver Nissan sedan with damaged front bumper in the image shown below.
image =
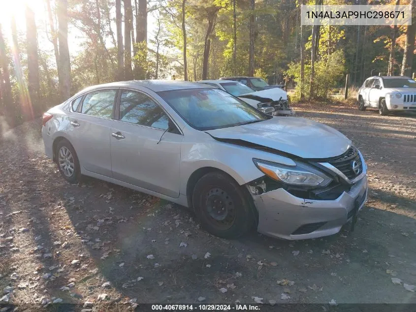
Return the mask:
{"type": "Polygon", "coordinates": [[[88,175],[192,208],[223,238],[335,234],[367,198],[364,159],[340,132],[198,83],[87,88],[43,115],[42,137],[68,182],[88,175]]]}

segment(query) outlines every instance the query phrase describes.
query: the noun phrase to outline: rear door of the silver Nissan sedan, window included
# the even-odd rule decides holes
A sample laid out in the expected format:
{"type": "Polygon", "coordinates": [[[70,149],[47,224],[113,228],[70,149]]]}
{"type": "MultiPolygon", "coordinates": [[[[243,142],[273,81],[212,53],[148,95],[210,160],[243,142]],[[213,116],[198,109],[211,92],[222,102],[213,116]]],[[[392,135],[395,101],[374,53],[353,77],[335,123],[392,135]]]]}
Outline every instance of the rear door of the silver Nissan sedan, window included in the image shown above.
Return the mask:
{"type": "Polygon", "coordinates": [[[111,177],[110,130],[118,89],[99,89],[74,102],[68,136],[87,171],[111,177]]]}

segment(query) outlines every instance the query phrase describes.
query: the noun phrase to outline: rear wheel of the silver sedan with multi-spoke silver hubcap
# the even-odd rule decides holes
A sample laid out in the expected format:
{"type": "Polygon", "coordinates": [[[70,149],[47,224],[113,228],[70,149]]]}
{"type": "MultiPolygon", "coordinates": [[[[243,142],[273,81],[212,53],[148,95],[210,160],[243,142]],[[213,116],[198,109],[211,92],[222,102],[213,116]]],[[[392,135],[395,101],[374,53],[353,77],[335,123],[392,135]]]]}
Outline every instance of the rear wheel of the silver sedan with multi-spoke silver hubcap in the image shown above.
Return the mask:
{"type": "Polygon", "coordinates": [[[55,150],[58,170],[69,183],[78,183],[81,177],[78,156],[66,139],[58,142],[55,150]],[[72,168],[72,170],[70,169],[72,168]]]}

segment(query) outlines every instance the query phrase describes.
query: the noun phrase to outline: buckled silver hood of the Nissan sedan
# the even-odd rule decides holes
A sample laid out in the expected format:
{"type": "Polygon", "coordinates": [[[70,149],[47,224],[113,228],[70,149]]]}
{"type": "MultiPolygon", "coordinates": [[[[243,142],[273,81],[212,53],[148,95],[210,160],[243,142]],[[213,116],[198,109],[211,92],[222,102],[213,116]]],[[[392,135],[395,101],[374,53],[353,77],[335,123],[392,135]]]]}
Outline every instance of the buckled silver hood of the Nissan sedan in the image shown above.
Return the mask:
{"type": "Polygon", "coordinates": [[[352,144],[339,131],[299,117],[273,117],[253,124],[206,132],[217,139],[244,140],[302,158],[339,156],[352,144]]]}

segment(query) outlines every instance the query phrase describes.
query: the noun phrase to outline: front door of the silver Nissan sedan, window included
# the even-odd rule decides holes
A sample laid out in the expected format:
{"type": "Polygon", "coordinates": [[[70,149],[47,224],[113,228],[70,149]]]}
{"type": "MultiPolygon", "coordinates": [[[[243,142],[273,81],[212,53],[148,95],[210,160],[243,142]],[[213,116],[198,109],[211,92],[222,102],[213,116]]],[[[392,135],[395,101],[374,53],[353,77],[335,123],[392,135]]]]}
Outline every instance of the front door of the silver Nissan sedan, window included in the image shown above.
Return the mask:
{"type": "Polygon", "coordinates": [[[121,89],[111,129],[113,177],[172,198],[179,197],[183,135],[149,95],[121,89]]]}

